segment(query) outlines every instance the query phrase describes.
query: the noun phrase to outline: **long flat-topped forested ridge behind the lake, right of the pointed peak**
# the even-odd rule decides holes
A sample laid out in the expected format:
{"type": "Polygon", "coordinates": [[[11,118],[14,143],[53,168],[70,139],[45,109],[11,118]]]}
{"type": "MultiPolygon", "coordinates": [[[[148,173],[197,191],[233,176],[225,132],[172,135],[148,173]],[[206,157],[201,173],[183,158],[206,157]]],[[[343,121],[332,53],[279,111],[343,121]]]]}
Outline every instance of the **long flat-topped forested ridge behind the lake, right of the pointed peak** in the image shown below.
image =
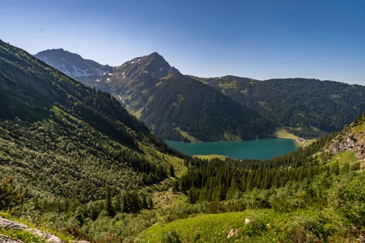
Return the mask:
{"type": "MultiPolygon", "coordinates": [[[[195,77],[194,77],[195,78],[195,77]]],[[[339,131],[365,110],[365,87],[286,78],[196,78],[300,137],[339,131]]]]}

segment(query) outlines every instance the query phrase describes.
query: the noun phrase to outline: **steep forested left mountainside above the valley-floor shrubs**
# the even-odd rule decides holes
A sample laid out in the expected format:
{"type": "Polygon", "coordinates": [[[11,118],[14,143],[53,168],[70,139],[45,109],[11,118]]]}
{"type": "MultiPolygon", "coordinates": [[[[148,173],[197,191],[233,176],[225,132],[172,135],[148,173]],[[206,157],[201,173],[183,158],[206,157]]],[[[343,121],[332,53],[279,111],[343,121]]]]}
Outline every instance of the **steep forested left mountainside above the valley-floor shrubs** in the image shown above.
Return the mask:
{"type": "Polygon", "coordinates": [[[86,203],[173,175],[177,153],[119,101],[1,41],[0,96],[0,174],[33,195],[86,203]]]}

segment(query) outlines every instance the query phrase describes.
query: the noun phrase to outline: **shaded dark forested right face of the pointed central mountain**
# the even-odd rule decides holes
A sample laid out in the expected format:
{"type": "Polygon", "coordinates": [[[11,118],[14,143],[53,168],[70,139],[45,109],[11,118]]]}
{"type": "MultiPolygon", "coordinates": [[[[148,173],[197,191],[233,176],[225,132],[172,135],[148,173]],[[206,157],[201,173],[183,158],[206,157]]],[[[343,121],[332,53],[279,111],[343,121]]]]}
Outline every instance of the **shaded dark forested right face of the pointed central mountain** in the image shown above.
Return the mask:
{"type": "Polygon", "coordinates": [[[179,140],[182,131],[201,141],[249,140],[273,135],[273,124],[257,112],[186,78],[172,68],[146,104],[140,118],[154,133],[179,140]]]}

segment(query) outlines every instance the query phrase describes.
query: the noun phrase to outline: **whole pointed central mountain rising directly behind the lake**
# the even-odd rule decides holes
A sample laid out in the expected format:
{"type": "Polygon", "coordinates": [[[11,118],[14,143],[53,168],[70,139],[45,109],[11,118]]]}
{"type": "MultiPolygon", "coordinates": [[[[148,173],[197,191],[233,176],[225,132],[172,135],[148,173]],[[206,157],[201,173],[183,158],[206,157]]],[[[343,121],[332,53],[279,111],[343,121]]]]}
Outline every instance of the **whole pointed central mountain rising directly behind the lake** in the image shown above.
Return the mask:
{"type": "MultiPolygon", "coordinates": [[[[43,59],[51,59],[48,53],[43,59]]],[[[250,140],[270,137],[275,130],[254,110],[181,75],[156,52],[133,58],[98,80],[97,89],[111,93],[164,139],[250,140]]]]}

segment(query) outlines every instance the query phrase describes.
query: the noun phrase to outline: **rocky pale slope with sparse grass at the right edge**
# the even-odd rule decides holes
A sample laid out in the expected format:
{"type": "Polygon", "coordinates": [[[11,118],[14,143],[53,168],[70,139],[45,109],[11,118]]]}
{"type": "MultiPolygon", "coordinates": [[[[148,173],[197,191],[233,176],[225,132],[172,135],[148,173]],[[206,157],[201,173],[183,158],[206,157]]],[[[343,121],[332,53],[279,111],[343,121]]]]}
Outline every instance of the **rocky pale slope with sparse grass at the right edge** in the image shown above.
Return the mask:
{"type": "Polygon", "coordinates": [[[330,144],[331,153],[343,151],[355,151],[359,160],[365,159],[365,113],[336,135],[330,144]]]}

